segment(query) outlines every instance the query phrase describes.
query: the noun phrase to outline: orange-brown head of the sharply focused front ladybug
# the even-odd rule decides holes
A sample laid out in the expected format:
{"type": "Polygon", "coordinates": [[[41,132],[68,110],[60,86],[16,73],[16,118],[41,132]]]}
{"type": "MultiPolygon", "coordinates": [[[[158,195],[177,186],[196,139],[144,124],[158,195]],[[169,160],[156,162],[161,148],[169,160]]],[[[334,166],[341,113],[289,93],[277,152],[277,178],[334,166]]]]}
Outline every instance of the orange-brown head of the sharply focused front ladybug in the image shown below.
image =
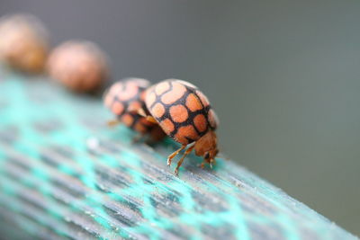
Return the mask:
{"type": "Polygon", "coordinates": [[[212,164],[215,161],[218,153],[218,139],[212,130],[208,131],[195,143],[195,154],[203,156],[203,160],[208,164],[212,164]]]}

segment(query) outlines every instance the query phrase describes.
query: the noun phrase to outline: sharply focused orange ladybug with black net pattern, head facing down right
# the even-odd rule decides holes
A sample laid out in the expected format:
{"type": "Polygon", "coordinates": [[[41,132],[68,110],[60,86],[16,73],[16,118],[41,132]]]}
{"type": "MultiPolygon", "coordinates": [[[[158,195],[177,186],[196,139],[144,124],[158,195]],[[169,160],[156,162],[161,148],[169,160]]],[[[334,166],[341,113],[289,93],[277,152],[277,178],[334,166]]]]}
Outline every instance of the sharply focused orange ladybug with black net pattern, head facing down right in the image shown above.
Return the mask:
{"type": "Polygon", "coordinates": [[[176,174],[193,148],[197,156],[203,156],[201,166],[208,163],[212,167],[219,152],[215,134],[219,120],[207,97],[196,86],[183,80],[167,79],[147,90],[145,103],[151,115],[148,120],[156,120],[166,135],[182,145],[167,157],[167,165],[190,146],[177,163],[176,174]]]}

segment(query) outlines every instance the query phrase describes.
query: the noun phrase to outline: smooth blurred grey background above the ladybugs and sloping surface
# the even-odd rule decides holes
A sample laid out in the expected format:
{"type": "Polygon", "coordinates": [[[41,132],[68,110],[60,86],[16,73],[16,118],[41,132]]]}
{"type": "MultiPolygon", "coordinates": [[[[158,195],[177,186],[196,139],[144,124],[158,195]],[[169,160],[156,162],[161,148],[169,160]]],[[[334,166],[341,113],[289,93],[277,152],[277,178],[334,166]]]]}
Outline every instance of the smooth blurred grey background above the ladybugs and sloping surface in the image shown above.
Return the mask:
{"type": "Polygon", "coordinates": [[[360,2],[0,0],[85,39],[112,79],[198,85],[225,155],[360,235],[360,2]]]}

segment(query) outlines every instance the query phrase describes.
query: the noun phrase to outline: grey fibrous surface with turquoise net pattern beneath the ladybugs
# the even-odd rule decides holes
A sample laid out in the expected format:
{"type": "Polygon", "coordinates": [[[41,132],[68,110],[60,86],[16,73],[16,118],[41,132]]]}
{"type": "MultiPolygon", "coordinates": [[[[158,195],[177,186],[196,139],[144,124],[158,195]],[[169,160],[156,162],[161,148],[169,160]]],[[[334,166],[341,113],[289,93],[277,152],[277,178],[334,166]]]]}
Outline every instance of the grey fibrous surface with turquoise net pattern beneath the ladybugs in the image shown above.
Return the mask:
{"type": "Polygon", "coordinates": [[[3,71],[0,109],[4,236],[356,238],[230,160],[202,170],[192,155],[176,177],[170,139],[133,144],[130,129],[106,127],[99,100],[47,79],[3,71]]]}

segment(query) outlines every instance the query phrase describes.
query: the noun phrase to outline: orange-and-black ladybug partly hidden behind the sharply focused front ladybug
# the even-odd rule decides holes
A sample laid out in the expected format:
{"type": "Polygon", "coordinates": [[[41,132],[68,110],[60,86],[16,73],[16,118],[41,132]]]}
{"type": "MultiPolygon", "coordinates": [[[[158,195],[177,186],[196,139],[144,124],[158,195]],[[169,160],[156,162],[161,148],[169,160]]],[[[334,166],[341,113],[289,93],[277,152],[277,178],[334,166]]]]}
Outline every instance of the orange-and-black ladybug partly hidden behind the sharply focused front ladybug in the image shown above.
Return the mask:
{"type": "Polygon", "coordinates": [[[165,138],[165,133],[157,123],[147,120],[139,115],[139,109],[145,107],[145,89],[150,83],[142,78],[127,78],[112,84],[104,94],[104,105],[116,115],[110,126],[122,122],[130,129],[140,133],[139,137],[149,134],[155,141],[165,138]]]}

